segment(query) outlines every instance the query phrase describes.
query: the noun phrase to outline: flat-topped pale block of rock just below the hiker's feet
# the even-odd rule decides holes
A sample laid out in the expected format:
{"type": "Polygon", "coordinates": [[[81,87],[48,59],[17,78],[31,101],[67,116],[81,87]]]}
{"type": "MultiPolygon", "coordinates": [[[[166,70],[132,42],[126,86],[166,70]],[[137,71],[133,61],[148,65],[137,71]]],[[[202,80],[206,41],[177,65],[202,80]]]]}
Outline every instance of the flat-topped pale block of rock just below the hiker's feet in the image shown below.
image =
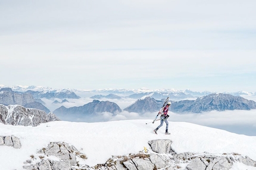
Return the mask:
{"type": "Polygon", "coordinates": [[[148,144],[151,146],[151,149],[157,153],[170,153],[171,152],[171,143],[170,139],[157,139],[150,140],[148,144]]]}

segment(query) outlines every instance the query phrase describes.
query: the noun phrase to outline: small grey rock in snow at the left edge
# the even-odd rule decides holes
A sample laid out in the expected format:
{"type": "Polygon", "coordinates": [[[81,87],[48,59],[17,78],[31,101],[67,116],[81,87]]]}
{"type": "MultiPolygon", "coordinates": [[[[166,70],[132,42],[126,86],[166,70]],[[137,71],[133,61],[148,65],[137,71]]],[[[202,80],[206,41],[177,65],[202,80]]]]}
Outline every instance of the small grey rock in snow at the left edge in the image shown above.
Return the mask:
{"type": "Polygon", "coordinates": [[[15,136],[0,136],[0,146],[12,146],[15,149],[21,148],[20,139],[15,136]]]}

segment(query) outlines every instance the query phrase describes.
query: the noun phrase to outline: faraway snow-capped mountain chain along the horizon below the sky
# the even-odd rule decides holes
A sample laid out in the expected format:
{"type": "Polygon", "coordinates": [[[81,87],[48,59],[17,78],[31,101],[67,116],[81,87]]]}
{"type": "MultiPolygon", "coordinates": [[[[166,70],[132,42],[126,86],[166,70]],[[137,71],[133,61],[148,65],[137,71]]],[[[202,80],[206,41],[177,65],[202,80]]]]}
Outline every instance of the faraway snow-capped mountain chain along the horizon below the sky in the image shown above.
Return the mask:
{"type": "MultiPolygon", "coordinates": [[[[35,91],[38,93],[38,98],[41,98],[42,96],[45,98],[51,98],[55,97],[57,94],[64,94],[66,93],[67,96],[60,95],[61,98],[79,98],[79,95],[109,95],[109,94],[115,94],[119,95],[120,97],[127,97],[129,95],[133,94],[154,94],[154,93],[160,93],[162,95],[170,94],[174,95],[173,97],[179,97],[180,94],[183,94],[183,99],[186,97],[185,95],[188,95],[187,98],[191,97],[202,97],[205,95],[213,94],[216,92],[210,92],[210,91],[192,91],[190,89],[180,90],[180,89],[148,89],[148,88],[139,88],[139,89],[112,89],[112,88],[106,88],[106,89],[54,89],[50,87],[43,87],[43,86],[23,86],[23,85],[15,85],[15,86],[5,86],[0,85],[0,88],[11,88],[13,91],[17,92],[26,92],[26,91],[35,91]],[[74,92],[74,94],[71,94],[71,92],[74,92]],[[46,95],[47,94],[47,95],[46,95]]],[[[249,96],[255,96],[256,92],[246,92],[246,91],[238,91],[238,92],[222,92],[224,94],[232,94],[235,96],[241,96],[241,95],[249,95],[249,96]]],[[[36,98],[36,97],[35,97],[36,98]]],[[[174,100],[175,98],[173,98],[174,100]]]]}

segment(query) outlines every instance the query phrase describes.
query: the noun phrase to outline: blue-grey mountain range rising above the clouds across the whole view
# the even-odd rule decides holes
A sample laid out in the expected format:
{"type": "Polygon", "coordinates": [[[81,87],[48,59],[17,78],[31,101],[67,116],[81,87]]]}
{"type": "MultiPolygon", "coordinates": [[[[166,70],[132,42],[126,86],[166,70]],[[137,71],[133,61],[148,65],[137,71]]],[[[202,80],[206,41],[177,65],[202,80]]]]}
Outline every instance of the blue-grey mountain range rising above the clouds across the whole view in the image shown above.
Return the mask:
{"type": "MultiPolygon", "coordinates": [[[[16,92],[11,88],[1,88],[0,89],[0,104],[4,105],[23,105],[26,108],[37,108],[39,110],[43,110],[46,113],[51,112],[48,108],[43,105],[42,100],[48,96],[49,98],[63,98],[63,97],[71,97],[74,99],[79,99],[80,97],[74,94],[71,91],[55,91],[56,93],[53,95],[54,91],[50,92],[36,92],[36,91],[26,91],[26,92],[16,92]],[[40,95],[39,95],[40,94],[40,95]],[[45,94],[45,95],[43,95],[45,94]],[[34,96],[33,96],[34,95],[34,96]],[[39,98],[35,98],[39,97],[39,98]]],[[[139,94],[132,94],[126,97],[120,97],[115,94],[108,95],[94,95],[90,98],[109,98],[110,100],[125,100],[125,98],[139,98],[133,104],[125,107],[124,111],[135,112],[139,114],[143,113],[152,113],[160,110],[161,104],[163,103],[163,99],[166,98],[170,93],[162,94],[160,92],[142,92],[139,94]],[[156,97],[156,98],[154,98],[156,97]],[[164,97],[164,98],[163,98],[164,97]],[[161,98],[161,99],[158,99],[161,98]]],[[[173,95],[171,95],[173,97],[173,95]]],[[[192,97],[191,95],[186,95],[183,92],[177,92],[176,97],[192,97]]],[[[171,99],[171,98],[170,98],[171,99]]],[[[63,102],[58,102],[55,100],[52,104],[65,104],[64,99],[63,102]]],[[[174,113],[202,113],[205,111],[224,111],[224,110],[251,110],[256,108],[256,104],[254,101],[246,100],[242,97],[237,97],[230,94],[209,94],[203,97],[198,97],[196,100],[179,100],[174,101],[171,100],[170,111],[174,113]]],[[[75,107],[65,107],[62,105],[61,107],[52,111],[58,115],[74,115],[74,114],[83,114],[83,115],[94,115],[95,113],[120,113],[121,108],[115,104],[115,102],[111,101],[99,101],[93,100],[87,104],[82,106],[75,107]]]]}

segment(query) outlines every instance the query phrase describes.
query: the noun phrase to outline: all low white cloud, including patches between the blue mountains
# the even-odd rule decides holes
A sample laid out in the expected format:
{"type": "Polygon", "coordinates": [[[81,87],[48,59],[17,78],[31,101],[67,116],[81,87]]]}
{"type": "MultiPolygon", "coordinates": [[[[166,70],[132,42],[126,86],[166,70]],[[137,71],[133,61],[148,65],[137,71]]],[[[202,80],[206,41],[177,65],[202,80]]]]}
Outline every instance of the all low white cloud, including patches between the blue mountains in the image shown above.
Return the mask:
{"type": "MultiPolygon", "coordinates": [[[[254,100],[255,97],[246,97],[248,100],[254,100]]],[[[70,100],[69,103],[57,104],[58,107],[65,105],[65,107],[74,107],[87,104],[91,102],[92,99],[82,98],[79,100],[70,100]]],[[[100,100],[101,101],[101,100],[100,100]]],[[[130,104],[133,104],[136,100],[126,99],[126,100],[110,100],[119,105],[123,110],[130,104]]],[[[50,100],[46,101],[46,104],[52,105],[50,100]]],[[[55,107],[57,108],[57,105],[55,107]]],[[[51,109],[50,109],[51,110],[51,109]]],[[[176,114],[169,111],[168,121],[185,121],[188,123],[195,123],[202,126],[214,127],[217,129],[227,130],[233,133],[246,134],[249,136],[256,136],[256,110],[228,110],[228,111],[210,111],[205,113],[191,113],[191,114],[176,114]]],[[[121,113],[97,113],[93,116],[85,115],[57,115],[61,120],[64,121],[84,121],[84,122],[101,122],[101,121],[118,121],[118,120],[131,120],[131,119],[145,119],[149,123],[151,120],[157,116],[157,112],[154,113],[129,113],[127,111],[122,111],[121,113]]],[[[159,117],[158,117],[159,118],[159,117]]],[[[159,121],[156,123],[160,123],[159,121]]],[[[144,124],[142,125],[144,126],[144,124]]],[[[156,125],[157,126],[157,125],[156,125]]]]}

